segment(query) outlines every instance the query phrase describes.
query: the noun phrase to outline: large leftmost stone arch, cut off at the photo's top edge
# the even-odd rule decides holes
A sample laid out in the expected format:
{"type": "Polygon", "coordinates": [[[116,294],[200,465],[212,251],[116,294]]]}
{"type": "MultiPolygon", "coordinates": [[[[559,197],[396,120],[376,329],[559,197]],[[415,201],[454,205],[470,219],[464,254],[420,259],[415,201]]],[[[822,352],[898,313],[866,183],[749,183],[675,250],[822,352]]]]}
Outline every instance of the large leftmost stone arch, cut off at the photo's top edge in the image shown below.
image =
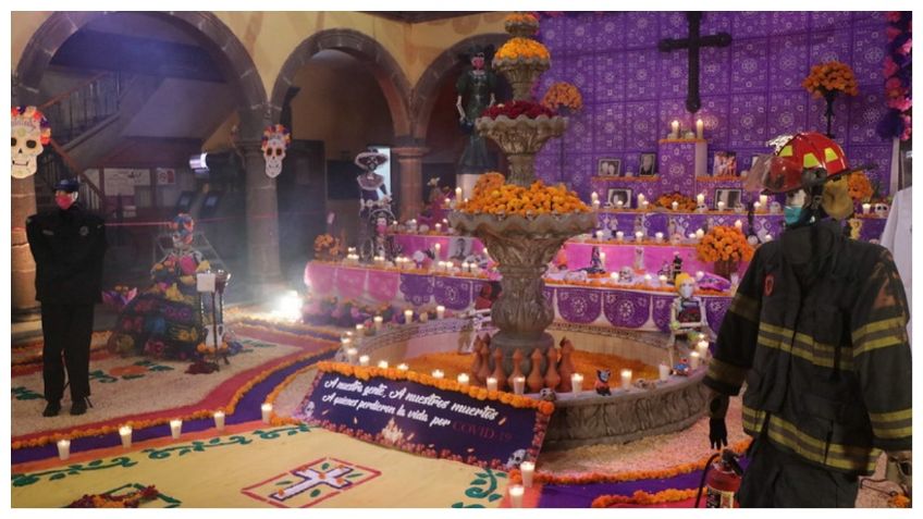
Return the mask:
{"type": "MultiPolygon", "coordinates": [[[[56,11],[29,39],[16,66],[17,99],[21,104],[38,104],[39,83],[51,59],[64,41],[86,24],[112,12],[56,11]]],[[[259,140],[267,119],[267,97],[259,72],[237,36],[207,11],[145,13],[179,22],[208,42],[207,50],[238,88],[242,139],[259,140]]]]}

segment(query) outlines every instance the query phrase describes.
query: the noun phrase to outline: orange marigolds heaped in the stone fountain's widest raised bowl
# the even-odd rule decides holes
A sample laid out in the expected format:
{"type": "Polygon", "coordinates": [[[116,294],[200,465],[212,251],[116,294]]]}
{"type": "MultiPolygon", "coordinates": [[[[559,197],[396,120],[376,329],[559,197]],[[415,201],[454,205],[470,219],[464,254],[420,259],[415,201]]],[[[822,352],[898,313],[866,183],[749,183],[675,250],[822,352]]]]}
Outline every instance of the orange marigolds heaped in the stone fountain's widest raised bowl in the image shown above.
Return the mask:
{"type": "Polygon", "coordinates": [[[485,173],[475,184],[473,198],[462,202],[458,210],[467,213],[518,214],[534,217],[540,214],[564,214],[588,212],[576,193],[567,190],[564,184],[545,186],[536,181],[528,188],[506,184],[501,173],[485,173]]]}

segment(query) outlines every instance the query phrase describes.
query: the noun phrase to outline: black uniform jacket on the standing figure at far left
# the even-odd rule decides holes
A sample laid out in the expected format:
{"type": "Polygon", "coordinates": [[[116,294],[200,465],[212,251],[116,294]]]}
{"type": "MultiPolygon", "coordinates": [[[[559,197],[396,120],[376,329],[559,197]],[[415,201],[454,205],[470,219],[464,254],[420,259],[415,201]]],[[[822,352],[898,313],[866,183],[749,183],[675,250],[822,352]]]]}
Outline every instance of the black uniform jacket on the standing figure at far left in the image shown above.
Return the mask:
{"type": "Polygon", "coordinates": [[[102,300],[106,224],[77,203],[26,219],[35,258],[35,298],[47,305],[93,305],[102,300]]]}

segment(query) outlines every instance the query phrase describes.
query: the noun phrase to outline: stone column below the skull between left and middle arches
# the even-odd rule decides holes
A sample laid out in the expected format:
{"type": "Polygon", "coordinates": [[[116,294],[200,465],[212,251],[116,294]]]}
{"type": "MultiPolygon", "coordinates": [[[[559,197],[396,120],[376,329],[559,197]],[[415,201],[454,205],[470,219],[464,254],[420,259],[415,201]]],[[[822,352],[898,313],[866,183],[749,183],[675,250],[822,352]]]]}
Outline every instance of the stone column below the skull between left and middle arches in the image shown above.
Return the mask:
{"type": "Polygon", "coordinates": [[[241,143],[241,149],[247,182],[247,277],[253,295],[268,296],[278,294],[284,286],[279,267],[275,180],[266,174],[259,141],[241,143]]]}

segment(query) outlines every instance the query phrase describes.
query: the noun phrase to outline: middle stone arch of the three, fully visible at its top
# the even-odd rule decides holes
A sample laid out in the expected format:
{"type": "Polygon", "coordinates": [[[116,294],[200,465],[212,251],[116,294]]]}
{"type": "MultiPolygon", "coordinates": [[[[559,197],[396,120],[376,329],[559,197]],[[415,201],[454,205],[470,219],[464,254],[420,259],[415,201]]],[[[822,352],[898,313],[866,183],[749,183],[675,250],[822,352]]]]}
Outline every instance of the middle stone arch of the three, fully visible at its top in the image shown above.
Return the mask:
{"type": "Polygon", "coordinates": [[[408,102],[410,98],[410,82],[401,65],[378,41],[358,30],[334,28],[325,29],[309,36],[288,54],[285,64],[279,72],[269,112],[272,121],[278,121],[282,113],[285,92],[295,82],[295,75],[305,66],[308,60],[322,50],[339,50],[371,65],[371,73],[378,82],[387,108],[395,136],[410,133],[408,102]]]}

